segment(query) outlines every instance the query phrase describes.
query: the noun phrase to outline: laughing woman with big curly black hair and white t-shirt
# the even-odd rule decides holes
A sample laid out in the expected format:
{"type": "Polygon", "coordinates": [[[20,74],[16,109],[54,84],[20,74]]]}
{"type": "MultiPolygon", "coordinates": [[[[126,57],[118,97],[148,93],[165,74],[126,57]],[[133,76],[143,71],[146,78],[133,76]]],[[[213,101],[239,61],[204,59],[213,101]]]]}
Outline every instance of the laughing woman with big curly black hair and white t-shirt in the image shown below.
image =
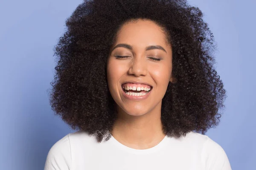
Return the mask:
{"type": "Polygon", "coordinates": [[[55,47],[50,100],[78,131],[52,146],[44,169],[231,170],[205,135],[226,95],[202,16],[185,0],[80,4],[55,47]]]}

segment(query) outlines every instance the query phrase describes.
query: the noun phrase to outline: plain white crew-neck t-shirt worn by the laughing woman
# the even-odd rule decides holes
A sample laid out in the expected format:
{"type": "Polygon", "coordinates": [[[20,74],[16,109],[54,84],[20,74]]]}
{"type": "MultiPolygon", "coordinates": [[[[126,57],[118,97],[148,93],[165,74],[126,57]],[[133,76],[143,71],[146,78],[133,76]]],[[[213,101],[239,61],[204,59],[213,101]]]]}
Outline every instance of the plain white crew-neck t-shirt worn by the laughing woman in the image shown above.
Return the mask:
{"type": "Polygon", "coordinates": [[[44,170],[231,170],[223,148],[201,133],[166,136],[144,150],[104,139],[82,130],[67,134],[49,150],[44,170]]]}

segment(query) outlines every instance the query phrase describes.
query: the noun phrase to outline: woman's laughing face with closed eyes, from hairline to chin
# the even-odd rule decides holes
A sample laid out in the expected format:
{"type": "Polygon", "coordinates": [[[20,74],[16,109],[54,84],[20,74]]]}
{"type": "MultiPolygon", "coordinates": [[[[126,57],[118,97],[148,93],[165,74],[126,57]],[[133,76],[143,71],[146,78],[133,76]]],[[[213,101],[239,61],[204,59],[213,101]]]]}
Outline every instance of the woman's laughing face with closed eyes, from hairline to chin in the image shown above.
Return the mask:
{"type": "Polygon", "coordinates": [[[172,73],[172,48],[165,38],[160,27],[150,20],[129,22],[120,29],[107,63],[108,87],[119,112],[140,116],[161,108],[172,73]],[[133,89],[124,91],[122,87],[133,89]],[[138,91],[144,88],[150,91],[138,91]]]}

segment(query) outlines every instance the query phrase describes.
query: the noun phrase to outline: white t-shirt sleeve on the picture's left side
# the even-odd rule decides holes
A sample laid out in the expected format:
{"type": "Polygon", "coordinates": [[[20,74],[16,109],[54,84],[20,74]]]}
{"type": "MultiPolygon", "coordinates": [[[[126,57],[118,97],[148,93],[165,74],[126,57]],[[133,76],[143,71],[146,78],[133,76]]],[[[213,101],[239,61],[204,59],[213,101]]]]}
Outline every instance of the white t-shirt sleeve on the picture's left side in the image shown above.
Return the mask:
{"type": "Polygon", "coordinates": [[[70,170],[71,149],[69,135],[56,142],[48,152],[44,170],[70,170]]]}

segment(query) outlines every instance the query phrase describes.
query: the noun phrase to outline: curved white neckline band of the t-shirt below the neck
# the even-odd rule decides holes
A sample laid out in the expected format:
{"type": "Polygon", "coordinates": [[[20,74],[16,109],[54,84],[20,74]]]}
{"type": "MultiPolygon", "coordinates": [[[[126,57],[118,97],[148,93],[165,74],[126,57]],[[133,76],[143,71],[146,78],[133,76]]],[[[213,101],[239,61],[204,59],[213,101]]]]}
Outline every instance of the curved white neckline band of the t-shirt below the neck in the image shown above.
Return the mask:
{"type": "Polygon", "coordinates": [[[148,154],[148,153],[154,153],[157,151],[160,151],[162,148],[164,148],[167,144],[168,136],[166,135],[157,145],[148,148],[148,149],[134,149],[128,146],[125,146],[124,144],[117,141],[114,136],[111,135],[111,138],[109,139],[110,142],[116,147],[118,147],[121,150],[124,150],[128,153],[134,153],[134,154],[148,154]]]}

